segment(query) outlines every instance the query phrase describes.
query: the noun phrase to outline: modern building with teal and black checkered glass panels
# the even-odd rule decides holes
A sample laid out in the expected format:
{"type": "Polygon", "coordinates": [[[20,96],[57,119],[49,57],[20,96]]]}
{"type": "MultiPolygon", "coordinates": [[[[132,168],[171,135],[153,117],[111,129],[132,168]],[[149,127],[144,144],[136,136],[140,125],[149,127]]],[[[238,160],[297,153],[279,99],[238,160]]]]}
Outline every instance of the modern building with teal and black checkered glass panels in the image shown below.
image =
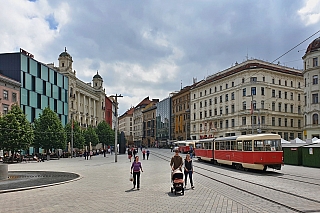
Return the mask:
{"type": "Polygon", "coordinates": [[[20,107],[30,122],[48,106],[58,114],[63,126],[68,122],[68,77],[24,50],[0,54],[0,74],[21,83],[20,107]]]}

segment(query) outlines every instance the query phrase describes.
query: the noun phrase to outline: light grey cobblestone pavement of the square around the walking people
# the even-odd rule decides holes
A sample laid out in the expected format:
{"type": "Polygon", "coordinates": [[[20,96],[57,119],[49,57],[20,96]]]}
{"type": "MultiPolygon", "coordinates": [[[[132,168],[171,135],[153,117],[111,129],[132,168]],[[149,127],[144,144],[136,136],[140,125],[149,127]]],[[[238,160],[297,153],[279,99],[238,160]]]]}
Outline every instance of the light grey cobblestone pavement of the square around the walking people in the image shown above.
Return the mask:
{"type": "MultiPolygon", "coordinates": [[[[197,174],[194,175],[195,190],[191,190],[189,185],[184,196],[171,194],[169,162],[157,158],[153,153],[171,154],[170,150],[151,149],[149,160],[142,160],[140,156],[144,169],[140,191],[132,189],[132,182],[129,181],[131,163],[126,155],[118,155],[117,163],[113,155],[106,158],[100,155],[92,160],[73,158],[9,165],[10,172],[70,172],[79,174],[80,178],[65,184],[0,194],[0,212],[241,213],[276,212],[270,209],[278,208],[268,208],[271,204],[266,201],[260,205],[259,198],[224,190],[223,186],[213,184],[197,174]]],[[[316,171],[307,168],[305,173],[316,174],[316,171]]],[[[278,208],[277,212],[290,211],[278,208]]]]}

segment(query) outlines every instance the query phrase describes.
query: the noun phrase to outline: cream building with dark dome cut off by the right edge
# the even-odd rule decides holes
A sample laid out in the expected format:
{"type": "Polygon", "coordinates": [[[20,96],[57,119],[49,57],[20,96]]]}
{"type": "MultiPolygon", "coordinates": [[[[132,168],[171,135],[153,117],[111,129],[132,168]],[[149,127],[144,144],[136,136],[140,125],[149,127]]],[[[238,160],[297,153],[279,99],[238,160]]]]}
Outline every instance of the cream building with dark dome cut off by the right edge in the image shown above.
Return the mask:
{"type": "Polygon", "coordinates": [[[304,140],[320,138],[320,37],[312,41],[302,57],[304,62],[304,140]]]}

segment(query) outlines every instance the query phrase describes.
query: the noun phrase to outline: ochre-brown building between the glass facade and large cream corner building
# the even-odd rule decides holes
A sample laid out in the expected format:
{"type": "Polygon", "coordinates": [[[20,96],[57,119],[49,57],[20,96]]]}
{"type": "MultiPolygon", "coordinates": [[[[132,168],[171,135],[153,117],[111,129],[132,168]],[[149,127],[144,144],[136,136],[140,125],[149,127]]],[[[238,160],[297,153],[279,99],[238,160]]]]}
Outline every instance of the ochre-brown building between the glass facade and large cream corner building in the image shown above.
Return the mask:
{"type": "Polygon", "coordinates": [[[190,138],[190,90],[186,86],[172,97],[173,140],[188,140],[190,138]]]}

